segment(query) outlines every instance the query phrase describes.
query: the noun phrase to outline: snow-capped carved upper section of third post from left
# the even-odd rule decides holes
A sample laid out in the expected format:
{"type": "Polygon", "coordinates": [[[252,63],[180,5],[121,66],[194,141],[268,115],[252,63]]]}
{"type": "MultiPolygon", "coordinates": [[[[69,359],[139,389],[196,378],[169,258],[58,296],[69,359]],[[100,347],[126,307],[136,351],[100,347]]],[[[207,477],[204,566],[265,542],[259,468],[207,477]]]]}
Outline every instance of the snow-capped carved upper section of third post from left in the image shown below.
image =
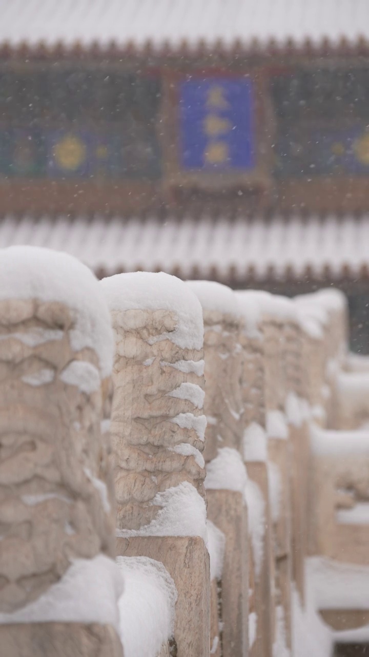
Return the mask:
{"type": "Polygon", "coordinates": [[[240,450],[242,442],[242,347],[234,292],[213,281],[187,281],[204,315],[206,463],[218,447],[240,450]]]}

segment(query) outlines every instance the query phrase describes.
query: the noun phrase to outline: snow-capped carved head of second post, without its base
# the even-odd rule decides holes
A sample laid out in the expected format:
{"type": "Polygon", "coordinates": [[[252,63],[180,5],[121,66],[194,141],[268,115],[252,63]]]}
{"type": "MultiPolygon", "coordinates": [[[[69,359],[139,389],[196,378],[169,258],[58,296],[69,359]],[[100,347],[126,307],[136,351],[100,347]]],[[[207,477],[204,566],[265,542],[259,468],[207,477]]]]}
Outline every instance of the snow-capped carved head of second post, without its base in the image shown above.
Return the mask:
{"type": "Polygon", "coordinates": [[[116,336],[110,433],[117,526],[139,530],[161,508],[153,503],[157,493],[189,482],[205,497],[202,311],[169,275],[121,274],[101,285],[116,336]]]}

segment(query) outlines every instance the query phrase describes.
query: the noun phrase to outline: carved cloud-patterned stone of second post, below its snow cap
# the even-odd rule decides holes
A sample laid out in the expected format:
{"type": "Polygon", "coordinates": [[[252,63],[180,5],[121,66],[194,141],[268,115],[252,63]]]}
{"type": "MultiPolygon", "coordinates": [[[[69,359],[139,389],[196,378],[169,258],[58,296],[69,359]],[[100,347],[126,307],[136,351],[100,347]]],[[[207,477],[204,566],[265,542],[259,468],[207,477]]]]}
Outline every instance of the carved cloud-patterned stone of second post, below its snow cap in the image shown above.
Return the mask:
{"type": "Polygon", "coordinates": [[[202,351],[167,336],[178,322],[170,311],[112,311],[112,322],[117,524],[139,530],[160,509],[156,493],[187,481],[204,496],[202,351]]]}

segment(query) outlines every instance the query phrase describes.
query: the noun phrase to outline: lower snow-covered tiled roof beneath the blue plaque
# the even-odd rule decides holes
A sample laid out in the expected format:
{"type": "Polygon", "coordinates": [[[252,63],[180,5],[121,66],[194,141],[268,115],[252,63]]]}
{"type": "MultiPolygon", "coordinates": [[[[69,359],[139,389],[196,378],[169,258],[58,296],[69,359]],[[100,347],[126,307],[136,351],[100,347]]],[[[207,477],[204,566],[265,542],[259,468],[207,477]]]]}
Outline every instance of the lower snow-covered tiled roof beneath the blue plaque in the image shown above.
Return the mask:
{"type": "Polygon", "coordinates": [[[334,280],[369,271],[369,215],[230,220],[207,217],[0,221],[0,247],[32,244],[66,251],[99,275],[166,271],[184,279],[334,280]]]}

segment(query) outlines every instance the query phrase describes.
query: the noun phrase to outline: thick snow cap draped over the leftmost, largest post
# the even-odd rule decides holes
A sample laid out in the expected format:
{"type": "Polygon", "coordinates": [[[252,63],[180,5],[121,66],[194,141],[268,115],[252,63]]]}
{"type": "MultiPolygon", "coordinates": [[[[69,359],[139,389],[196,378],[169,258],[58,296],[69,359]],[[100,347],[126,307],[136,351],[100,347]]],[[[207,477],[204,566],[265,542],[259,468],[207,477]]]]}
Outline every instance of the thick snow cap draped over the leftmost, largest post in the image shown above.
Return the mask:
{"type": "Polygon", "coordinates": [[[95,275],[79,260],[36,246],[1,249],[0,300],[6,299],[38,299],[70,307],[75,321],[70,330],[72,349],[91,347],[97,352],[102,378],[110,374],[114,353],[110,313],[95,275]]]}

